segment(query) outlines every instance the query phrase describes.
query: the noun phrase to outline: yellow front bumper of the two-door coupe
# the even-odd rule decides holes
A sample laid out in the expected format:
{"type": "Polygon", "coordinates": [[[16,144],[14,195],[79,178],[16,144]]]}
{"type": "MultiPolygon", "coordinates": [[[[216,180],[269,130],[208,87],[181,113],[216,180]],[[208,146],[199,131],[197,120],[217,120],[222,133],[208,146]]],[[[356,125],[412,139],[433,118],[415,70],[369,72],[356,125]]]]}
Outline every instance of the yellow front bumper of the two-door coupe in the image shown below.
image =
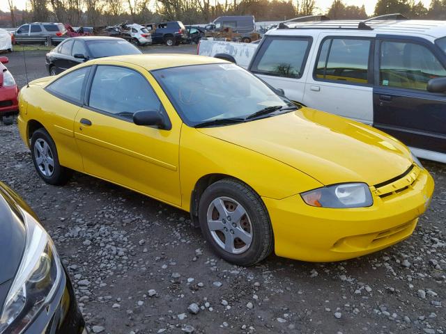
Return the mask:
{"type": "Polygon", "coordinates": [[[429,206],[433,179],[421,170],[417,180],[394,196],[374,195],[374,205],[355,209],[311,207],[300,195],[263,198],[279,256],[309,262],[351,259],[408,238],[429,206]]]}

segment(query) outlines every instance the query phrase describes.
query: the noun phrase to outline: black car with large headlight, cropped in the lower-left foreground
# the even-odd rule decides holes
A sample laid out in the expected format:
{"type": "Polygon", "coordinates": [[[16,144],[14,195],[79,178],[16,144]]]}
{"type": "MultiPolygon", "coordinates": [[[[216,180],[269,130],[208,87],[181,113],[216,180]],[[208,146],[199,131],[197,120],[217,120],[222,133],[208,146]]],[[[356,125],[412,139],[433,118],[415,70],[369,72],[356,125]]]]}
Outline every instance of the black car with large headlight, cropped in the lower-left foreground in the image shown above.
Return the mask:
{"type": "Polygon", "coordinates": [[[0,334],[87,333],[51,238],[1,182],[0,229],[0,334]]]}

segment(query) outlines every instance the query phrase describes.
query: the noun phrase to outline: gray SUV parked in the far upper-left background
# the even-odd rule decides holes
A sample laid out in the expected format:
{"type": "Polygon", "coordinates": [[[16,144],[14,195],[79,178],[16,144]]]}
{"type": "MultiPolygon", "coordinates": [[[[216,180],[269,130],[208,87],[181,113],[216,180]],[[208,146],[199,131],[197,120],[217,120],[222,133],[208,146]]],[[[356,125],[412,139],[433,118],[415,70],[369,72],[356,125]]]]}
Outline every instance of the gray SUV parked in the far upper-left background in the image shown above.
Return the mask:
{"type": "Polygon", "coordinates": [[[46,43],[46,38],[48,36],[54,38],[62,37],[66,32],[65,26],[61,23],[34,22],[20,26],[14,32],[14,37],[17,44],[35,44],[36,42],[46,43]]]}

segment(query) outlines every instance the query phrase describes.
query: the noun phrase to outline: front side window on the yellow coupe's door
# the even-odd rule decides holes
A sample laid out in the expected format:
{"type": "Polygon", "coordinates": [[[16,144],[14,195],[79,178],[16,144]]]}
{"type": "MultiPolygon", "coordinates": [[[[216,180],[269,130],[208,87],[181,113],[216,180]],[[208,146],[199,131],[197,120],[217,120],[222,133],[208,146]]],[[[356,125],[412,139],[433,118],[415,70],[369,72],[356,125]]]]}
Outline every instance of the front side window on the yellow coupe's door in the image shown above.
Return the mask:
{"type": "Polygon", "coordinates": [[[132,120],[137,111],[160,110],[161,102],[139,72],[101,65],[91,84],[89,106],[132,120]]]}

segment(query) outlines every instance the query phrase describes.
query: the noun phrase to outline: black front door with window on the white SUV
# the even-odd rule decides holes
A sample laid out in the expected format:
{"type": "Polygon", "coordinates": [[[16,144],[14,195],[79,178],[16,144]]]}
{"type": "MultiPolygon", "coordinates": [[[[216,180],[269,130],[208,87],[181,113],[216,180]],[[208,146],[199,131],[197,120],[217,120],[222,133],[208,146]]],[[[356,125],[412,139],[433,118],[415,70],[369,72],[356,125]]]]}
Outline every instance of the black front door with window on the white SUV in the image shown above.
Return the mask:
{"type": "Polygon", "coordinates": [[[381,35],[376,57],[374,126],[412,148],[445,154],[446,95],[427,91],[430,79],[446,77],[445,54],[421,38],[381,35]]]}

